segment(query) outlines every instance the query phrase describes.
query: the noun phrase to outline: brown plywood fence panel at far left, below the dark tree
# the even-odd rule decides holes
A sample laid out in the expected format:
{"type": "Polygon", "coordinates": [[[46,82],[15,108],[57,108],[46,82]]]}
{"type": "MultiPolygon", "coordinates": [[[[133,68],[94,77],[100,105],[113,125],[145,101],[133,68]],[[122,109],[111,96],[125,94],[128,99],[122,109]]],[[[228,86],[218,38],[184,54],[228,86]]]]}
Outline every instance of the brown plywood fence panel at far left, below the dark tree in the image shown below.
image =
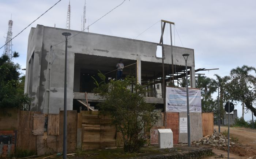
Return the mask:
{"type": "Polygon", "coordinates": [[[19,110],[1,109],[0,112],[0,130],[18,130],[19,110]]]}

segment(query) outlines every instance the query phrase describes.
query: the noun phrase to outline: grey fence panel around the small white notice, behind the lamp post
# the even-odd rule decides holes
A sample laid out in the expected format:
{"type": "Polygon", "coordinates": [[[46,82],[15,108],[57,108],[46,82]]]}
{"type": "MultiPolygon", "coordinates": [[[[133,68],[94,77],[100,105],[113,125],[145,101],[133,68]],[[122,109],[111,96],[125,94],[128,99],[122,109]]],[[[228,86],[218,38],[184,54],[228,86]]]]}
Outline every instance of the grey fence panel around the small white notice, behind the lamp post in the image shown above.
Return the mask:
{"type": "MultiPolygon", "coordinates": [[[[202,113],[189,113],[191,142],[203,138],[202,113]]],[[[187,113],[180,112],[179,118],[187,118],[187,113]]],[[[188,133],[179,134],[179,143],[188,143],[188,133]]]]}

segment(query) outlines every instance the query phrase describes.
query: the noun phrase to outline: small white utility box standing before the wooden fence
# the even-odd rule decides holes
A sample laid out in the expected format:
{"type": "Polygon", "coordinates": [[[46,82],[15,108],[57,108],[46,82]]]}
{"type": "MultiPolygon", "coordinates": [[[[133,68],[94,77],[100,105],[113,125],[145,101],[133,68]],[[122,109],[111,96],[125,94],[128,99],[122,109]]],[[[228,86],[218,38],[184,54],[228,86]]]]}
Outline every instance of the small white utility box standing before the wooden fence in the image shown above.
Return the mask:
{"type": "Polygon", "coordinates": [[[159,148],[173,147],[173,132],[171,129],[158,129],[159,148]]]}

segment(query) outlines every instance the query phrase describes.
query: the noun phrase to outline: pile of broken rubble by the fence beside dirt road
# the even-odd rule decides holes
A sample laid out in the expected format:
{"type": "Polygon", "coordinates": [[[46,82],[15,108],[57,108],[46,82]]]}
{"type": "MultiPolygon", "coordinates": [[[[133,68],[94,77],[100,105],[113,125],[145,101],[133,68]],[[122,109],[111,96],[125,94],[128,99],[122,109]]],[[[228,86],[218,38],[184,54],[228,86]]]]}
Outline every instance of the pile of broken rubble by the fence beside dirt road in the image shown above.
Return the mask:
{"type": "MultiPolygon", "coordinates": [[[[200,144],[202,144],[202,145],[210,145],[218,148],[223,148],[223,147],[227,147],[227,142],[228,142],[227,137],[217,132],[214,129],[214,133],[211,136],[210,135],[204,136],[202,139],[198,141],[194,141],[193,144],[195,144],[197,147],[199,147],[200,144]]],[[[235,144],[236,143],[230,142],[229,140],[229,146],[234,146],[235,144]]]]}

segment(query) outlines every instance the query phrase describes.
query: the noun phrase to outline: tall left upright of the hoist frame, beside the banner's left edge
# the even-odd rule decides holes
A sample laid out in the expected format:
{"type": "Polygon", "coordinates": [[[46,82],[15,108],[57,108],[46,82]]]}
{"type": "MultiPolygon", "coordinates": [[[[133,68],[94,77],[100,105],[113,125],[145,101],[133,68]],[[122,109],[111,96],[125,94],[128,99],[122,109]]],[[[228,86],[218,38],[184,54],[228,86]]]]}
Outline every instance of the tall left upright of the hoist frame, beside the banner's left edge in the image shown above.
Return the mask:
{"type": "Polygon", "coordinates": [[[162,78],[162,98],[163,98],[163,110],[164,110],[164,117],[165,117],[165,128],[166,128],[166,108],[165,108],[165,64],[163,62],[163,59],[165,57],[164,49],[163,49],[163,22],[161,21],[161,39],[162,39],[162,72],[163,72],[163,78],[162,78]]]}

